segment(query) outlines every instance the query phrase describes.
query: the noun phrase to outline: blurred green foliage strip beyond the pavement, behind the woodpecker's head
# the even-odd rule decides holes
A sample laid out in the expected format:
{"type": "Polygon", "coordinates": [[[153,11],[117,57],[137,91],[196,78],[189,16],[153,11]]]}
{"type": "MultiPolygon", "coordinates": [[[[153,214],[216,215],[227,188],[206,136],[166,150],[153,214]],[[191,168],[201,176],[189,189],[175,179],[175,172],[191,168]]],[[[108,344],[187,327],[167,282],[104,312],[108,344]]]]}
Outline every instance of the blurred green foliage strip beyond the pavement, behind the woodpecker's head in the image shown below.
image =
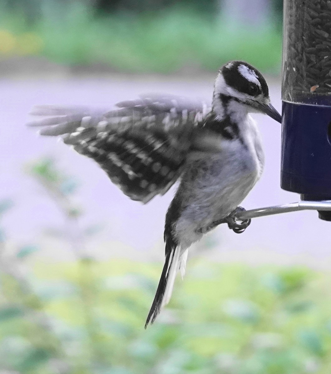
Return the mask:
{"type": "MultiPolygon", "coordinates": [[[[281,21],[263,30],[231,28],[215,12],[194,6],[162,12],[96,13],[84,2],[43,1],[31,20],[0,1],[0,58],[46,56],[68,65],[132,73],[217,71],[233,59],[279,73],[281,21]]],[[[25,8],[24,8],[25,9],[25,8]]]]}

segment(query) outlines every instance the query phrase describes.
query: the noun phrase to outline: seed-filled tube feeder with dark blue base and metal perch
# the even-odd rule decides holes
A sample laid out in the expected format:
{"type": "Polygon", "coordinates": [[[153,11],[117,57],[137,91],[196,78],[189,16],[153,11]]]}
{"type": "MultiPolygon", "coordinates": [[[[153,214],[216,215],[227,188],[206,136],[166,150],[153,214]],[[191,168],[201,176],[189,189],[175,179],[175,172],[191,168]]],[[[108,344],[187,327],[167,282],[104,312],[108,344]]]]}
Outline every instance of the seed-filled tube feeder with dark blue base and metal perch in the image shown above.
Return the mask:
{"type": "Polygon", "coordinates": [[[281,187],[301,201],[249,219],[314,209],[331,221],[331,0],[284,0],[281,187]]]}

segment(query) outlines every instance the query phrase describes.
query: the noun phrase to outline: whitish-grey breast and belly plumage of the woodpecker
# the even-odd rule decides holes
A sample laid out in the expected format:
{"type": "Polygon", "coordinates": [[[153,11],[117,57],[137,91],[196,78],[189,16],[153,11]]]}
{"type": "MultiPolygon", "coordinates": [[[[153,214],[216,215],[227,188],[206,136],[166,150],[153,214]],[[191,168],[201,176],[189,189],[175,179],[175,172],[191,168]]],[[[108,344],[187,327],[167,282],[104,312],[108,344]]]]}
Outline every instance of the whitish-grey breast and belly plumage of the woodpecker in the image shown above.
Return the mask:
{"type": "Polygon", "coordinates": [[[192,163],[181,182],[186,202],[175,232],[187,248],[196,231],[229,215],[261,176],[264,155],[255,122],[249,118],[241,140],[222,142],[222,150],[192,163]],[[184,244],[185,243],[185,244],[184,244]]]}

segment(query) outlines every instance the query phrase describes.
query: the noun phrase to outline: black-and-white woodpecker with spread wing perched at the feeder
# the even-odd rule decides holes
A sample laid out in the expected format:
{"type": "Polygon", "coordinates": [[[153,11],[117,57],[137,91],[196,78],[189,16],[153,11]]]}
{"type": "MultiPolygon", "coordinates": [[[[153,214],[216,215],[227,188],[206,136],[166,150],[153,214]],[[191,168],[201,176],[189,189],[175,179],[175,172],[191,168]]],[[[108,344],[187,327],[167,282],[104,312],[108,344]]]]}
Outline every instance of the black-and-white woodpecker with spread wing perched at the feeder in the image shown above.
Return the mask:
{"type": "Polygon", "coordinates": [[[62,135],[65,144],[94,159],[132,200],[147,203],[177,181],[165,220],[165,264],[146,325],[168,303],[188,249],[204,233],[235,219],[239,204],[261,176],[264,154],[250,112],[278,122],[263,76],[243,61],[224,65],[215,80],[211,106],[172,95],[142,95],[117,109],[38,105],[43,116],[30,126],[41,135],[62,135]]]}

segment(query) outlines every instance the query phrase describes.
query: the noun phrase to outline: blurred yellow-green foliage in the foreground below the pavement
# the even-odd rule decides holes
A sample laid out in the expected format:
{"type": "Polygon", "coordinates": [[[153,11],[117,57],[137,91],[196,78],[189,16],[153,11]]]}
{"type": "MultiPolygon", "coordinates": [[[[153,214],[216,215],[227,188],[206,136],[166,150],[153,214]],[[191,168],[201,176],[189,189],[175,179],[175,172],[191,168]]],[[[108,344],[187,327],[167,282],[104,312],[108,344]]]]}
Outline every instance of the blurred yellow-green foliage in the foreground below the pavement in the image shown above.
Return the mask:
{"type": "MultiPolygon", "coordinates": [[[[1,237],[0,371],[330,372],[330,275],[192,258],[171,302],[145,330],[162,265],[86,257],[88,231],[75,226],[83,209],[72,202],[77,183],[47,158],[26,171],[62,210],[68,226],[62,240],[76,260],[45,261],[33,244],[8,250],[1,237]]],[[[0,201],[0,228],[12,207],[10,199],[0,201]]]]}

